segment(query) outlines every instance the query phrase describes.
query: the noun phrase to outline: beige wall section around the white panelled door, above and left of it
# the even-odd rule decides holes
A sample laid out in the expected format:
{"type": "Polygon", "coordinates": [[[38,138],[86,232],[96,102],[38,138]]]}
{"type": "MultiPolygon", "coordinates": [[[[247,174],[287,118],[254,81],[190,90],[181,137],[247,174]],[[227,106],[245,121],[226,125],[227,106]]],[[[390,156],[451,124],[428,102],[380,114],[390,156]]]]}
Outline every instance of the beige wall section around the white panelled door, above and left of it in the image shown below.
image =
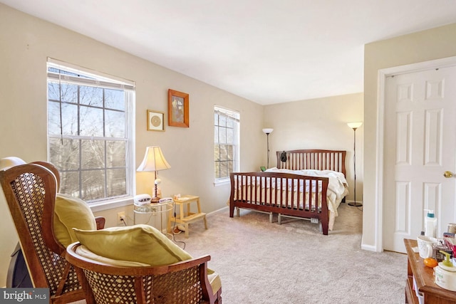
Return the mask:
{"type": "MultiPolygon", "coordinates": [[[[456,56],[456,23],[369,43],[364,51],[364,208],[362,247],[375,250],[378,70],[456,56]]],[[[388,210],[383,216],[388,216],[388,210]]]]}

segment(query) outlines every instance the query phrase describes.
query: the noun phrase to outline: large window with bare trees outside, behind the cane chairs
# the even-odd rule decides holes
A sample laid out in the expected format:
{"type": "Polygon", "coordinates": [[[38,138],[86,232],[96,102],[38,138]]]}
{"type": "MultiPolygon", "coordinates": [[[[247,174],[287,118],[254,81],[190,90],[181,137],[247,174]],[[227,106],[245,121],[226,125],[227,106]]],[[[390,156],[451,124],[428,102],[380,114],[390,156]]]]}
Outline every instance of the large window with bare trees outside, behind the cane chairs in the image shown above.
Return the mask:
{"type": "Polygon", "coordinates": [[[49,60],[48,161],[60,192],[93,203],[133,195],[133,103],[128,80],[49,60]]]}

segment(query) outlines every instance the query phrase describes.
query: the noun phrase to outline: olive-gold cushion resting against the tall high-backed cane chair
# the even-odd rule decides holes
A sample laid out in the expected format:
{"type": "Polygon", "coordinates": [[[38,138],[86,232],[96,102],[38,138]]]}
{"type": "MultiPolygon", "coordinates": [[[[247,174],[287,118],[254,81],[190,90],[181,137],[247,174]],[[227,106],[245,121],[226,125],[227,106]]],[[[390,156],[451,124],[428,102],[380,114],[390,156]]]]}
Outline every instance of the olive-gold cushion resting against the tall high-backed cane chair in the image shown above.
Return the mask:
{"type": "Polygon", "coordinates": [[[95,216],[85,201],[66,194],[57,194],[53,230],[57,241],[67,247],[78,241],[73,228],[97,229],[95,216]]]}

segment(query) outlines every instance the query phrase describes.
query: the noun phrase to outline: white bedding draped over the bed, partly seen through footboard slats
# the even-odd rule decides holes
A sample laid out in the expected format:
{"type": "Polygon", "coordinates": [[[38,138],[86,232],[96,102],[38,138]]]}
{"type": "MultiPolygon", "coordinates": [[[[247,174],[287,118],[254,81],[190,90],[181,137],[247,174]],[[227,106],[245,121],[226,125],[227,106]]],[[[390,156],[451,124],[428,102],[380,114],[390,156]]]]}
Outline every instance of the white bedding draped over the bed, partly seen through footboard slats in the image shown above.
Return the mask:
{"type": "MultiPolygon", "coordinates": [[[[331,171],[331,170],[314,170],[314,169],[304,169],[304,170],[290,170],[290,169],[277,169],[276,167],[267,169],[266,172],[280,172],[280,173],[289,173],[289,174],[298,174],[298,175],[306,175],[306,176],[311,176],[311,177],[327,177],[328,178],[328,191],[326,193],[326,201],[328,203],[328,210],[329,210],[329,225],[328,229],[332,230],[333,229],[333,224],[336,216],[338,216],[338,206],[341,204],[342,199],[348,194],[348,183],[346,181],[346,178],[341,172],[336,172],[336,171],[331,171]]],[[[267,179],[269,182],[269,179],[267,179]]],[[[274,184],[275,180],[271,180],[271,187],[276,188],[276,189],[281,189],[283,187],[282,184],[276,185],[274,184]]],[[[318,185],[321,188],[321,184],[318,185]]],[[[270,185],[269,183],[265,183],[262,185],[262,192],[263,192],[263,197],[266,198],[267,202],[271,202],[271,198],[268,197],[268,191],[266,189],[269,189],[270,185]]],[[[290,195],[294,195],[295,199],[295,204],[299,202],[299,205],[302,206],[304,205],[304,201],[306,201],[306,208],[309,209],[314,209],[315,208],[315,193],[321,193],[321,189],[318,189],[320,191],[317,191],[316,189],[316,183],[312,184],[312,193],[313,197],[311,199],[312,201],[312,206],[309,206],[309,197],[306,195],[306,199],[303,199],[304,194],[308,194],[310,191],[309,187],[309,181],[306,183],[306,189],[304,191],[304,184],[297,184],[294,183],[294,189],[291,188],[291,182],[289,182],[289,189],[283,189],[283,192],[289,192],[290,195]],[[299,199],[296,197],[296,191],[299,187],[299,192],[300,192],[300,197],[299,199]]],[[[249,189],[249,187],[247,188],[249,189]]],[[[244,195],[247,197],[249,196],[249,191],[244,192],[244,195]]],[[[321,197],[318,197],[318,207],[320,207],[321,204],[321,197]]]]}

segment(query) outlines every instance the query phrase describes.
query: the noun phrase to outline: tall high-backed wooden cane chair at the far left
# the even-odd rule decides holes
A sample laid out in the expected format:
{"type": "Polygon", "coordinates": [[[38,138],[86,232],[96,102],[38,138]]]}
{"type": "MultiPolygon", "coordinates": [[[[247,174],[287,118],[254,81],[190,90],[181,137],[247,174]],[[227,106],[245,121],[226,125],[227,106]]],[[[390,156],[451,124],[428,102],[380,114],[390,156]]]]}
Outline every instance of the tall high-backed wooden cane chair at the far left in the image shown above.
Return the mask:
{"type": "MultiPolygon", "coordinates": [[[[19,235],[33,286],[49,288],[51,303],[85,298],[76,271],[64,258],[66,248],[53,233],[58,169],[47,162],[20,164],[0,171],[0,183],[19,235]]],[[[103,228],[104,219],[97,218],[103,228]]]]}

